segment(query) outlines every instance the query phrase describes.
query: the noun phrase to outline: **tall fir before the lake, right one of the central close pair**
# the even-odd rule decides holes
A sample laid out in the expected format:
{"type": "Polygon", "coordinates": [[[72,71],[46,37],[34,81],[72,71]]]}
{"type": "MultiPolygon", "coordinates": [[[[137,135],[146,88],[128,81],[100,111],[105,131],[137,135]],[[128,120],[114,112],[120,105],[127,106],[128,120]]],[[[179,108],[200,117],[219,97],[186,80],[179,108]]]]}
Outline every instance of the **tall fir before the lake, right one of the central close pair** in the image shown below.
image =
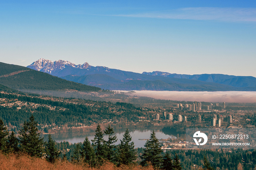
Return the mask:
{"type": "Polygon", "coordinates": [[[104,133],[108,135],[108,140],[104,141],[104,143],[106,144],[106,158],[114,163],[114,159],[116,158],[115,143],[117,141],[117,136],[113,136],[114,130],[110,125],[108,125],[104,133]]]}

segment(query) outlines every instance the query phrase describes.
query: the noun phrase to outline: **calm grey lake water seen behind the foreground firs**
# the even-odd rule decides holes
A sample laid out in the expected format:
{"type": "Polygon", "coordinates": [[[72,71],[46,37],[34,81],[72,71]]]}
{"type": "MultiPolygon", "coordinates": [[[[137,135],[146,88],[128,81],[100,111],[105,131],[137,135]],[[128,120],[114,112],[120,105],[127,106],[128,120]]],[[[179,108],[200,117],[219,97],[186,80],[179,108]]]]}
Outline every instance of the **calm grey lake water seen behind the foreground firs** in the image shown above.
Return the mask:
{"type": "MultiPolygon", "coordinates": [[[[117,135],[116,144],[120,143],[120,139],[123,139],[123,135],[126,129],[118,129],[115,130],[115,135],[117,135]]],[[[150,129],[150,128],[137,128],[133,130],[129,130],[130,135],[132,136],[132,141],[134,142],[135,148],[144,147],[146,140],[139,139],[149,139],[150,134],[155,131],[155,135],[158,139],[168,139],[168,138],[176,138],[173,135],[164,134],[160,129],[150,129]]],[[[52,139],[56,142],[67,141],[70,143],[79,143],[83,142],[84,138],[87,136],[88,139],[91,140],[94,138],[95,132],[67,132],[62,134],[51,134],[52,139]]],[[[44,140],[48,140],[48,135],[42,135],[44,140]]],[[[108,136],[104,136],[104,139],[107,139],[108,136]]]]}

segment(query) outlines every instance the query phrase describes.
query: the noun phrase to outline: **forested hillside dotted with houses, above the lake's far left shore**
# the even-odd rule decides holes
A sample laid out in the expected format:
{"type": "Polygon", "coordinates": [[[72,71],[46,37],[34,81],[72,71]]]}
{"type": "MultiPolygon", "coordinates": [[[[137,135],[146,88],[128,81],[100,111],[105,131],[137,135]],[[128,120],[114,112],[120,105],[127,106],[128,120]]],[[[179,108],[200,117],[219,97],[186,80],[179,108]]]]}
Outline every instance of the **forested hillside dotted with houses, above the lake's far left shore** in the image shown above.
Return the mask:
{"type": "MultiPolygon", "coordinates": [[[[124,125],[135,123],[139,116],[151,119],[151,114],[127,103],[53,98],[27,94],[0,93],[0,119],[17,130],[33,114],[39,124],[56,124],[57,127],[86,125],[110,121],[124,125]]],[[[125,125],[124,125],[125,127],[125,125]]],[[[45,129],[48,132],[47,128],[45,129]]]]}

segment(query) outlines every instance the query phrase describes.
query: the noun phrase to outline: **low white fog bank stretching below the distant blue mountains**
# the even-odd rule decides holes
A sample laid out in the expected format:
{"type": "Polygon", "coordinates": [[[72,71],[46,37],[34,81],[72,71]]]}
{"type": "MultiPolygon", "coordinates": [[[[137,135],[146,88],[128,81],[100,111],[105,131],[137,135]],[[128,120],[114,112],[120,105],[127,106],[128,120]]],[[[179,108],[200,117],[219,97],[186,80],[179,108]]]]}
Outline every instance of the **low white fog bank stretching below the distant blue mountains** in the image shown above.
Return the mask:
{"type": "MultiPolygon", "coordinates": [[[[128,92],[116,90],[119,92],[128,92]]],[[[135,93],[127,93],[135,96],[146,96],[164,100],[179,101],[206,101],[229,103],[255,103],[256,92],[226,91],[226,92],[178,92],[178,91],[150,91],[133,90],[135,93]]]]}

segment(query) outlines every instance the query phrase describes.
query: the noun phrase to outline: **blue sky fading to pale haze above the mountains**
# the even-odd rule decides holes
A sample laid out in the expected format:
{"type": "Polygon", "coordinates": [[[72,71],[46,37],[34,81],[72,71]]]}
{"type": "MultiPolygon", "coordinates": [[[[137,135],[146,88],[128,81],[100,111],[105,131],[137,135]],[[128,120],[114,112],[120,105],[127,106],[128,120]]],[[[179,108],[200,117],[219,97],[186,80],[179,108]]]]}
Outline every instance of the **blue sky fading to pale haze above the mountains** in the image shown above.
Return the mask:
{"type": "Polygon", "coordinates": [[[0,1],[0,61],[256,77],[256,1],[0,1]]]}

